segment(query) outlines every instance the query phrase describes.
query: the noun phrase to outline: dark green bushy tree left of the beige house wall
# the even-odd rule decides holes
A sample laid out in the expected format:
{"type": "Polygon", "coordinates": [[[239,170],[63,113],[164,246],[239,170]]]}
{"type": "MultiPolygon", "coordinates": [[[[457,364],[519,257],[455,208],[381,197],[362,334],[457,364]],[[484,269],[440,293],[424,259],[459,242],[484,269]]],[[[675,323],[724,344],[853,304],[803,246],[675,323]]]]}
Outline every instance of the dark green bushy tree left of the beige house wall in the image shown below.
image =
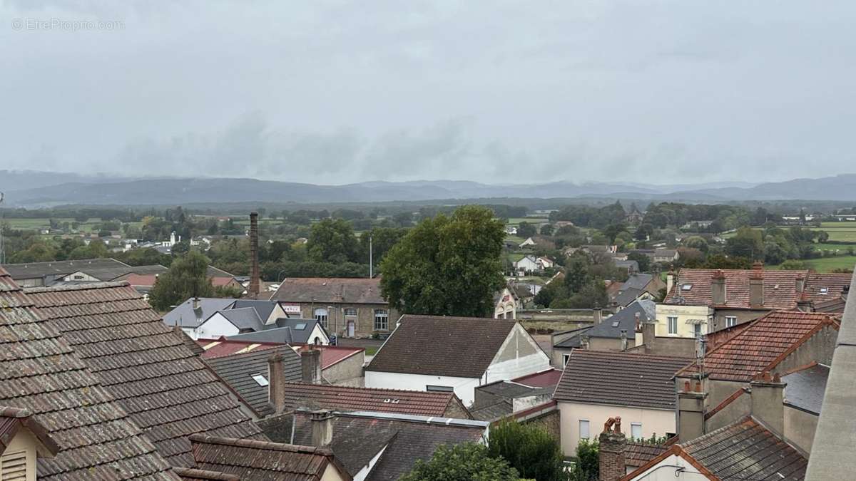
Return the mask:
{"type": "Polygon", "coordinates": [[[490,429],[488,454],[508,461],[522,478],[564,481],[562,448],[539,425],[504,420],[490,429]]]}

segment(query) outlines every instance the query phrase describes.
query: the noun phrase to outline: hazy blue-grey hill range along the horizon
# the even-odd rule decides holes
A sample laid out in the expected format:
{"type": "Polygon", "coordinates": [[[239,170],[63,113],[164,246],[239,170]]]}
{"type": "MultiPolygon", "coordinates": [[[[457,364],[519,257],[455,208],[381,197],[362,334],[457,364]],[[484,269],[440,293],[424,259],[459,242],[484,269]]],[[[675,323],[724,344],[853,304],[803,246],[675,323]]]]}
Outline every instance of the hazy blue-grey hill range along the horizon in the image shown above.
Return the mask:
{"type": "Polygon", "coordinates": [[[442,199],[609,198],[727,202],[742,200],[856,201],[856,174],[750,184],[650,185],[556,181],[490,185],[473,181],[370,181],[323,186],[237,178],[140,178],[0,170],[10,206],[187,205],[265,202],[300,204],[442,199]]]}

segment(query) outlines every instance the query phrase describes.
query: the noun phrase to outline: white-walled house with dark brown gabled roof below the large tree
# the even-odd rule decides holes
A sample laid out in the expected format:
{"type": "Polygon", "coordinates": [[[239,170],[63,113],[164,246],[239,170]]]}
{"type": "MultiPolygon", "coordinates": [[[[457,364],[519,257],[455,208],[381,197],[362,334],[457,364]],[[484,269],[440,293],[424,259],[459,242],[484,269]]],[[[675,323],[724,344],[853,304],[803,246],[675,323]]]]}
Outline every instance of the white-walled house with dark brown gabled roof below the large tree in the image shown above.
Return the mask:
{"type": "Polygon", "coordinates": [[[366,367],[367,388],[455,392],[550,368],[550,358],[512,319],[401,316],[366,367]]]}

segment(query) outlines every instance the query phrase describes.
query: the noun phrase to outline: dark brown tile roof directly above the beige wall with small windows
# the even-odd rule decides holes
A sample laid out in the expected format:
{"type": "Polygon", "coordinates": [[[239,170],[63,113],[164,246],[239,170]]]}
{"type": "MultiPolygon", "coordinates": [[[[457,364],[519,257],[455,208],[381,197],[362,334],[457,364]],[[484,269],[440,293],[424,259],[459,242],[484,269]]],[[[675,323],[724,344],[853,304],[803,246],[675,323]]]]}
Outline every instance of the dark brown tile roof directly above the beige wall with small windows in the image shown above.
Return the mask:
{"type": "Polygon", "coordinates": [[[675,371],[689,359],[574,349],[556,401],[675,409],[675,371]]]}

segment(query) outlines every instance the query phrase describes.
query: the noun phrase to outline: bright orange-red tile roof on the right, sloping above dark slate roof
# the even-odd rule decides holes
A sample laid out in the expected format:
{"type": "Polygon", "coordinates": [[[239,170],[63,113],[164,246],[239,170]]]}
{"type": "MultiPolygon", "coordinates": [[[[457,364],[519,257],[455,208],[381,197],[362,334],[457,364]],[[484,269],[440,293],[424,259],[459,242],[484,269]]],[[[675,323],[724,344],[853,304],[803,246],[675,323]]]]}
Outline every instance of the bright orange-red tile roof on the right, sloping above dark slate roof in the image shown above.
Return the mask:
{"type": "MultiPolygon", "coordinates": [[[[839,323],[817,312],[770,312],[704,355],[704,372],[711,379],[748,382],[758,372],[770,371],[784,356],[823,326],[838,330],[839,323]]],[[[679,375],[698,372],[687,365],[679,375]]]]}

